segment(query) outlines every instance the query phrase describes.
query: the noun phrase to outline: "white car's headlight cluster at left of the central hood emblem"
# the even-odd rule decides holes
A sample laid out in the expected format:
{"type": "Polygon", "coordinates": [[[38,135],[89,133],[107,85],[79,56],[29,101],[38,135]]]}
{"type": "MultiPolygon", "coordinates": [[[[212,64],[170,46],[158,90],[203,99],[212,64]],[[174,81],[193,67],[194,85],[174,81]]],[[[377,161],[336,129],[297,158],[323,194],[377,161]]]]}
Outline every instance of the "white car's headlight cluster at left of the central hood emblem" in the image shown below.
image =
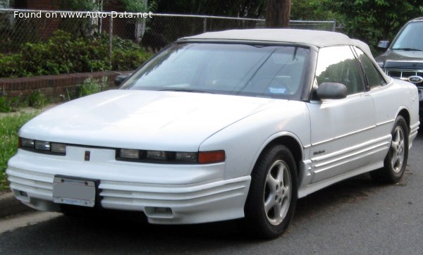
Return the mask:
{"type": "Polygon", "coordinates": [[[59,142],[39,141],[20,137],[19,148],[46,154],[66,155],[66,144],[59,142]]]}

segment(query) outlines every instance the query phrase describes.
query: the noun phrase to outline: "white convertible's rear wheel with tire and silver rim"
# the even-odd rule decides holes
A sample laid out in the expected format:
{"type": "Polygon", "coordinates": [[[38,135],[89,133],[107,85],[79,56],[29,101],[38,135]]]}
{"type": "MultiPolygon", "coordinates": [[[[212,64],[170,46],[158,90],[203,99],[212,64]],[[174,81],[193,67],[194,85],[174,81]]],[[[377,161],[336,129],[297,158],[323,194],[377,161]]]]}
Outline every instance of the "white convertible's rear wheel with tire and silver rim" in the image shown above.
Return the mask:
{"type": "Polygon", "coordinates": [[[384,160],[384,167],[370,172],[377,182],[397,183],[403,178],[408,159],[408,127],[403,116],[396,118],[391,132],[391,147],[384,160]]]}

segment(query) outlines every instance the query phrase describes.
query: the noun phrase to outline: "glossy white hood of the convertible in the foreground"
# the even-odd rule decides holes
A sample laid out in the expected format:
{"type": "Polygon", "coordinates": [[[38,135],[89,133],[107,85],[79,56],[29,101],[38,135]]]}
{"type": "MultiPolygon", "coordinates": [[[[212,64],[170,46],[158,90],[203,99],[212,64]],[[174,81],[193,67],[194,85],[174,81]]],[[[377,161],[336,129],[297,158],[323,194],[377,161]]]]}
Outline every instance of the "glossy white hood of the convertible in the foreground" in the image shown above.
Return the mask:
{"type": "Polygon", "coordinates": [[[215,132],[286,100],[110,90],[56,106],[20,136],[96,147],[197,151],[215,132]]]}

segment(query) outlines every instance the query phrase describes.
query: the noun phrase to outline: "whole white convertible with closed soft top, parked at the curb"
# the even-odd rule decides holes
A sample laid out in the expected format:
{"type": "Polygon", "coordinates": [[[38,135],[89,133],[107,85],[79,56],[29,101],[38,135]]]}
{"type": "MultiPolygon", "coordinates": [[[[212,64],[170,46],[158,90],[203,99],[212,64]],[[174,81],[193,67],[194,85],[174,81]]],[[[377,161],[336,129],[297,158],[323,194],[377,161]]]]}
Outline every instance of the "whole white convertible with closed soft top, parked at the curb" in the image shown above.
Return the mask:
{"type": "Polygon", "coordinates": [[[174,42],[119,89],[20,130],[16,198],[39,210],[139,211],[149,223],[245,218],[274,238],[298,198],[354,175],[398,182],[419,128],[415,85],[336,33],[228,30],[174,42]]]}

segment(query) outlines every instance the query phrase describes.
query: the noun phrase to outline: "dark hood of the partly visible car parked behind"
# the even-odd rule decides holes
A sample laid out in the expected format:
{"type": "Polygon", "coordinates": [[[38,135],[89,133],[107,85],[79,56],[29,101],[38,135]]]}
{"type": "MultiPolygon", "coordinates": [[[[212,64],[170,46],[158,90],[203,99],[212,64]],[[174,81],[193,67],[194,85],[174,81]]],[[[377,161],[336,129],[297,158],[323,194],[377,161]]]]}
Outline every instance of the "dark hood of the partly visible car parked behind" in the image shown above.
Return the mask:
{"type": "Polygon", "coordinates": [[[423,69],[423,51],[388,50],[376,58],[382,68],[423,69]]]}

